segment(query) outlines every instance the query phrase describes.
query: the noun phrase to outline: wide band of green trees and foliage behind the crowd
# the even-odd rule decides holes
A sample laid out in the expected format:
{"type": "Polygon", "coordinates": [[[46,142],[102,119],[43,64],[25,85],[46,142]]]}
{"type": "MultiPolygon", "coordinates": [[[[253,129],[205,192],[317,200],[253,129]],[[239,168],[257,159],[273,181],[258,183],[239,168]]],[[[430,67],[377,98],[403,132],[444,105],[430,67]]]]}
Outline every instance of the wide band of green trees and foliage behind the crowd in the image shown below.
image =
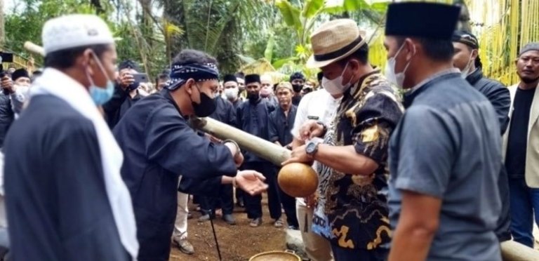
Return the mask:
{"type": "MultiPolygon", "coordinates": [[[[222,73],[260,59],[281,72],[303,69],[311,55],[315,25],[343,15],[362,27],[382,21],[387,2],[368,5],[344,0],[326,6],[325,0],[20,0],[19,13],[6,15],[6,43],[27,56],[25,41],[41,43],[41,27],[48,18],[66,13],[96,13],[108,20],[117,41],[119,60],[139,62],[150,76],[168,67],[182,49],[194,48],[218,59],[222,73]],[[164,13],[153,13],[157,4],[164,13]],[[142,8],[134,8],[142,6],[142,8]],[[155,6],[154,6],[155,7],[155,6]],[[114,15],[114,22],[111,18],[114,15]]],[[[36,58],[41,62],[41,58],[36,58]]],[[[304,72],[311,72],[303,69],[304,72]]]]}

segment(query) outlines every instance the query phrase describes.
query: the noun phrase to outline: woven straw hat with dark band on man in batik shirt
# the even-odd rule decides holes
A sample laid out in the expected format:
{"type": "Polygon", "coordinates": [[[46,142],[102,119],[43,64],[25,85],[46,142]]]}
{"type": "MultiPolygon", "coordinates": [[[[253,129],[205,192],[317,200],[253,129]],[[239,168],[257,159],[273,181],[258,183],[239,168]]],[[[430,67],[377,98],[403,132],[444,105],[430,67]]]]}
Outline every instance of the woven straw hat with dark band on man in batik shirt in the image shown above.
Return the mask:
{"type": "Polygon", "coordinates": [[[311,35],[313,55],[307,60],[307,67],[324,67],[347,58],[366,44],[365,35],[351,19],[324,23],[311,35]]]}

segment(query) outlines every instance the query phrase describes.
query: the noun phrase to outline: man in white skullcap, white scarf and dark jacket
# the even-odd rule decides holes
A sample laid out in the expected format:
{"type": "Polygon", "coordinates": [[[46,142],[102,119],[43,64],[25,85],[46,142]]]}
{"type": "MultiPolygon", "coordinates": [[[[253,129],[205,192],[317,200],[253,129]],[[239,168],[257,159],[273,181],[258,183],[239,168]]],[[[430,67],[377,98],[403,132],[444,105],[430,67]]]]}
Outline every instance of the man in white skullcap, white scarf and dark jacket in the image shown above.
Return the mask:
{"type": "Polygon", "coordinates": [[[117,53],[103,20],[44,25],[45,69],[4,143],[13,260],[135,260],[135,217],[123,155],[98,111],[117,53]]]}

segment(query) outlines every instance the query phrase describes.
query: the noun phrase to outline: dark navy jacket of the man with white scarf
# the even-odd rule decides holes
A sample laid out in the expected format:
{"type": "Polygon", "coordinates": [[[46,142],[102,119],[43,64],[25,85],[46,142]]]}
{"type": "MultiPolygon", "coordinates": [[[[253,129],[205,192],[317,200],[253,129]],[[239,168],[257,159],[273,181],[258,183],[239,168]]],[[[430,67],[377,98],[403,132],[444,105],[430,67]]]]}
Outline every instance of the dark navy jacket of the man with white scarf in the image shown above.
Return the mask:
{"type": "Polygon", "coordinates": [[[65,100],[37,95],[13,122],[4,149],[13,260],[131,260],[91,120],[65,100]],[[28,242],[36,245],[29,249],[28,242]]]}

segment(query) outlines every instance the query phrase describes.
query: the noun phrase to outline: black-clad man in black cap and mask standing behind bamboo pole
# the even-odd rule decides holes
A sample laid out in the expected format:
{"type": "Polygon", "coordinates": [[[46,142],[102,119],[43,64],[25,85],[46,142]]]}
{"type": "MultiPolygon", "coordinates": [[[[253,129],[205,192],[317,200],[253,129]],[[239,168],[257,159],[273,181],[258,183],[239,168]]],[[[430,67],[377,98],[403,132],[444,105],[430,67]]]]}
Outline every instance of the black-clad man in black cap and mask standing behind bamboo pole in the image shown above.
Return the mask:
{"type": "MultiPolygon", "coordinates": [[[[245,76],[245,86],[248,101],[244,102],[237,109],[237,128],[251,135],[256,135],[264,140],[270,140],[268,123],[270,113],[275,107],[268,100],[260,98],[260,75],[249,74],[245,76]]],[[[262,173],[269,185],[267,191],[267,206],[270,208],[270,216],[275,220],[276,227],[282,227],[281,203],[279,201],[279,189],[277,187],[277,173],[272,163],[265,159],[245,152],[243,168],[253,169],[262,173]]],[[[244,196],[247,217],[251,219],[251,227],[258,227],[262,224],[262,196],[244,196]]]]}

